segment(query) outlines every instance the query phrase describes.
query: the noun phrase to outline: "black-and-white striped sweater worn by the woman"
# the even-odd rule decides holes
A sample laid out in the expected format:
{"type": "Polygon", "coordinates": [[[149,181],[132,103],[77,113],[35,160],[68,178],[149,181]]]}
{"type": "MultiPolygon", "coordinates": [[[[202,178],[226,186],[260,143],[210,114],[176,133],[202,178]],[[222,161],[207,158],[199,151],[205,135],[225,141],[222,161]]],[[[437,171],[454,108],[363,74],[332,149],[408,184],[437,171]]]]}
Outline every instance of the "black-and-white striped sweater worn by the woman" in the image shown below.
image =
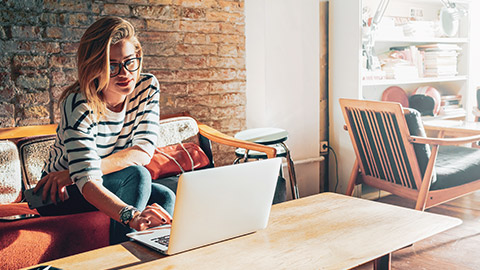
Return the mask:
{"type": "Polygon", "coordinates": [[[82,191],[90,180],[101,180],[101,159],[119,150],[140,147],[153,156],[159,131],[159,83],[151,74],[141,74],[124,108],[108,109],[98,121],[80,93],[70,94],[61,106],[61,122],[43,171],[69,170],[82,191]]]}

